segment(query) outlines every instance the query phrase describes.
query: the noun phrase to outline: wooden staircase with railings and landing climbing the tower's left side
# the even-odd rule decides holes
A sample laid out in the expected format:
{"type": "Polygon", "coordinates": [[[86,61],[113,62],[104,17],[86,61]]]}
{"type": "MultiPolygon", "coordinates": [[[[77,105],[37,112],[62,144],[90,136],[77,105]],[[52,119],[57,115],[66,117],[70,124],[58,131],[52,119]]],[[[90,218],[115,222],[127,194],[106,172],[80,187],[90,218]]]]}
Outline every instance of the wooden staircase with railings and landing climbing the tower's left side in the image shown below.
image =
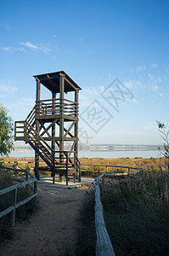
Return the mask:
{"type": "MultiPolygon", "coordinates": [[[[39,167],[39,170],[48,170],[54,177],[55,173],[65,175],[66,184],[68,176],[74,175],[74,181],[81,181],[81,163],[76,156],[70,158],[69,151],[59,151],[51,148],[42,136],[36,131],[36,106],[24,121],[16,121],[14,129],[14,140],[29,143],[42,160],[47,164],[46,167],[39,167]]],[[[58,142],[59,143],[59,142],[58,142]]]]}

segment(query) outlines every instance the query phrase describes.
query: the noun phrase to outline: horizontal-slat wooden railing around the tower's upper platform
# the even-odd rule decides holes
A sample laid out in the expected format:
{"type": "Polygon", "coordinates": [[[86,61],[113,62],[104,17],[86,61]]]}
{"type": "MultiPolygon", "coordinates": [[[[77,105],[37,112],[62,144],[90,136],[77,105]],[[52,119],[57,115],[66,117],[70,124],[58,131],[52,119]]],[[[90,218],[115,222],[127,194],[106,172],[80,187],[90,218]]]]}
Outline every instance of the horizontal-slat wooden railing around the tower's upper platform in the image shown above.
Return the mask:
{"type": "Polygon", "coordinates": [[[60,108],[62,108],[65,115],[78,115],[78,103],[66,99],[60,100],[59,98],[38,101],[36,112],[39,115],[59,114],[60,108]]]}

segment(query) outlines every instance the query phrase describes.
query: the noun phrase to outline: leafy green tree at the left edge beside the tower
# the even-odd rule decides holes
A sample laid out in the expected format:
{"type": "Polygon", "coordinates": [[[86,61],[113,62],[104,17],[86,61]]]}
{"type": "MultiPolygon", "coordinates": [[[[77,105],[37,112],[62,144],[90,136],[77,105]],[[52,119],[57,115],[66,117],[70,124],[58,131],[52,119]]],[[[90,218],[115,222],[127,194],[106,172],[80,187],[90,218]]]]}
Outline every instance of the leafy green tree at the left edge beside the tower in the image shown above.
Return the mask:
{"type": "Polygon", "coordinates": [[[0,155],[8,155],[14,148],[14,124],[8,110],[0,104],[0,155]]]}

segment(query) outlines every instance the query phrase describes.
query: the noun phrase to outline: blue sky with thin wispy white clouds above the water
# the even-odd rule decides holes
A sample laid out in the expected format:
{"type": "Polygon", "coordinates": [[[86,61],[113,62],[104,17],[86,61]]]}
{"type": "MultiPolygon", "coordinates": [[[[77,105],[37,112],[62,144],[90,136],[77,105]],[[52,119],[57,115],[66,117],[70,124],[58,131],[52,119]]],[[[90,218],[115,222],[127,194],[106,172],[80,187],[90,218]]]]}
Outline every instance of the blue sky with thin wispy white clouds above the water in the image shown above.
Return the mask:
{"type": "Polygon", "coordinates": [[[25,119],[32,75],[64,70],[82,88],[82,143],[163,143],[155,120],[168,121],[168,12],[164,0],[1,1],[0,103],[25,119]]]}

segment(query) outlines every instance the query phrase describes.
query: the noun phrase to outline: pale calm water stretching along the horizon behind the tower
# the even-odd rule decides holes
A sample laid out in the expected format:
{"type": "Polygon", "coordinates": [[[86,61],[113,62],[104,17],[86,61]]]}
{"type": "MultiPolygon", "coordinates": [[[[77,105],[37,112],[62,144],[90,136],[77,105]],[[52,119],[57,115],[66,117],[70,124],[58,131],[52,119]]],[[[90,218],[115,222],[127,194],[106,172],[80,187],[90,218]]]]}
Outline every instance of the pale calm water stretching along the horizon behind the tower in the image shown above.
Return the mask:
{"type": "MultiPolygon", "coordinates": [[[[33,150],[22,150],[22,151],[13,151],[9,156],[10,157],[34,157],[33,150]]],[[[121,158],[121,157],[161,157],[162,154],[159,150],[82,150],[79,151],[79,157],[88,157],[88,158],[121,158]]]]}

